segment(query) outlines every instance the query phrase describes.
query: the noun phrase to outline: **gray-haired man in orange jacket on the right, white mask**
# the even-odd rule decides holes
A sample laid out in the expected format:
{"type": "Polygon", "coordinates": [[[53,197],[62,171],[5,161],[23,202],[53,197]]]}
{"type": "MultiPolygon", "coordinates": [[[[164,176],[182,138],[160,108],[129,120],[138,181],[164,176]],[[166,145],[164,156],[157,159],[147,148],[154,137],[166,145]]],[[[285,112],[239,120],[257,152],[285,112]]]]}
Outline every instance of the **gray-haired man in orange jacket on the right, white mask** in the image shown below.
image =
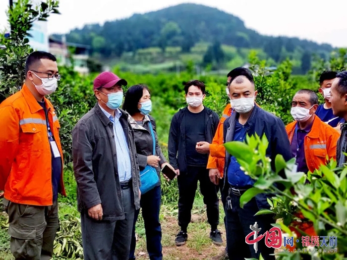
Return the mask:
{"type": "Polygon", "coordinates": [[[291,154],[296,158],[298,172],[313,172],[328,159],[336,159],[336,145],[340,134],[315,115],[318,96],[312,90],[299,90],[292,100],[294,122],[286,126],[291,154]]]}

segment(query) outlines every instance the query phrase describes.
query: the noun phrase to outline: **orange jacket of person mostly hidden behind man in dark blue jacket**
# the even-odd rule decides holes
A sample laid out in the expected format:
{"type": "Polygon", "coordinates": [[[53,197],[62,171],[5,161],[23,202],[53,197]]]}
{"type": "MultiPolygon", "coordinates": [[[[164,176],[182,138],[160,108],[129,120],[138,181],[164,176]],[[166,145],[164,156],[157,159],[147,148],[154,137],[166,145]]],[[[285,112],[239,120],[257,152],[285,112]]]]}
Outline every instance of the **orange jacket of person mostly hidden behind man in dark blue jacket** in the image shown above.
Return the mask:
{"type": "Polygon", "coordinates": [[[210,145],[210,156],[208,158],[207,169],[218,169],[223,177],[226,149],[223,140],[223,123],[231,115],[231,104],[224,108],[223,115],[219,121],[216,134],[210,145]]]}

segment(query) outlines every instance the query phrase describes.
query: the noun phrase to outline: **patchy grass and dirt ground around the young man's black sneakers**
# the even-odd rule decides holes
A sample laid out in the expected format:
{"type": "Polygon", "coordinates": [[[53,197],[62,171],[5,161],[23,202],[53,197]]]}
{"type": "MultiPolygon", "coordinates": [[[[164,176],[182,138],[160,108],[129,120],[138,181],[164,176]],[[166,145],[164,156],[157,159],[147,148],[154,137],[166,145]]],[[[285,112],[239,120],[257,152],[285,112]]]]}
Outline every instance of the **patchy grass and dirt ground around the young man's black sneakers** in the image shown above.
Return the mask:
{"type": "MultiPolygon", "coordinates": [[[[222,246],[213,245],[210,235],[210,225],[207,223],[206,207],[201,196],[197,195],[192,209],[192,222],[188,226],[188,241],[184,246],[176,247],[174,244],[175,235],[179,231],[177,223],[177,210],[175,205],[162,206],[162,245],[163,259],[165,260],[202,260],[211,259],[219,255],[226,246],[224,211],[220,204],[220,225],[219,229],[223,233],[224,244],[222,246]],[[174,207],[173,207],[174,206],[174,207]]],[[[147,259],[145,230],[141,214],[136,226],[138,241],[136,244],[136,259],[147,259]]]]}

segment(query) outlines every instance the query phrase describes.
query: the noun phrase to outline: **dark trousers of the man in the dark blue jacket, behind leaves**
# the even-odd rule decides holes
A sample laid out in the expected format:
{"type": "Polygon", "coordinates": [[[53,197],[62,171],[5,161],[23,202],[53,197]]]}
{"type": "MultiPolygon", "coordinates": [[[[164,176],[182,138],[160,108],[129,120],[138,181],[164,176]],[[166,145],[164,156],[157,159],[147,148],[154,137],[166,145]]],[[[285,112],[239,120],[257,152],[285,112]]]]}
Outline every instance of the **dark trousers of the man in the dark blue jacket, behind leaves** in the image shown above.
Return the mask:
{"type": "MultiPolygon", "coordinates": [[[[255,253],[253,245],[248,245],[245,242],[246,236],[252,232],[249,228],[257,222],[258,227],[261,228],[258,236],[264,234],[272,228],[271,223],[276,221],[271,215],[254,214],[259,211],[255,198],[248,202],[243,208],[240,208],[240,196],[231,193],[232,209],[227,209],[226,212],[226,229],[227,229],[227,245],[228,255],[232,260],[244,260],[245,258],[259,259],[260,254],[264,260],[275,260],[273,248],[268,248],[265,245],[265,237],[258,242],[258,252],[255,253]]],[[[253,237],[251,238],[253,240],[253,237]]]]}

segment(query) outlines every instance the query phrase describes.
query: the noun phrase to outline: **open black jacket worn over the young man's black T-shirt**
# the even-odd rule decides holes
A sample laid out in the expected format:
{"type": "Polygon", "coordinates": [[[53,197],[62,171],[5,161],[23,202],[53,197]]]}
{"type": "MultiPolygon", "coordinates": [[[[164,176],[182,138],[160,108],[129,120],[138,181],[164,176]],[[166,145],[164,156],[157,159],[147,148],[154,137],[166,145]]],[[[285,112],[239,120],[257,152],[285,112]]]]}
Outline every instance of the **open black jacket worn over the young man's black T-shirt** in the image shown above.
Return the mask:
{"type": "MultiPolygon", "coordinates": [[[[169,132],[169,161],[174,169],[180,172],[187,171],[185,156],[185,115],[188,107],[180,109],[173,115],[169,132]]],[[[206,142],[212,143],[219,123],[218,114],[205,106],[205,136],[206,142]]]]}

